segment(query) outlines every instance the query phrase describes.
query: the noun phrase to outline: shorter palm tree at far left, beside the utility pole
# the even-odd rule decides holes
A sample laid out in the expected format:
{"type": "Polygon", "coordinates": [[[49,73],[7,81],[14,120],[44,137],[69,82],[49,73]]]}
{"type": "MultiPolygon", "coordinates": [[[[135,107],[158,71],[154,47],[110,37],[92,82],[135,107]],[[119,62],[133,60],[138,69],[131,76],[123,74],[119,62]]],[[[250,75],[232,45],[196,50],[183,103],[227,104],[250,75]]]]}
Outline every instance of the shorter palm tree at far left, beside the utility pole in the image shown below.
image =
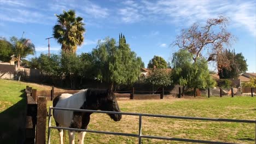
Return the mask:
{"type": "Polygon", "coordinates": [[[34,55],[34,44],[30,39],[11,37],[11,43],[13,45],[14,55],[18,62],[18,68],[20,68],[21,58],[25,58],[27,55],[34,55]]]}

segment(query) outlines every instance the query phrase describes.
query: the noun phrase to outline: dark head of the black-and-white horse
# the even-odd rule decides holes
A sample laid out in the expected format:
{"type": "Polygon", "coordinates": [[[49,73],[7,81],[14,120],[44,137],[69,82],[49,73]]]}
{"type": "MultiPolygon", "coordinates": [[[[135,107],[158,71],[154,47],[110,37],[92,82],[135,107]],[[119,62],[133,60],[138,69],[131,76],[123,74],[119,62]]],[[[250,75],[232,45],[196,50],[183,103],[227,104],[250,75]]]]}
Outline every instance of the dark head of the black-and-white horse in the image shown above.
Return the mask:
{"type": "MultiPolygon", "coordinates": [[[[100,110],[102,111],[116,111],[120,112],[117,98],[115,97],[113,91],[107,90],[107,99],[106,101],[102,101],[102,105],[100,106],[100,110]]],[[[120,121],[122,118],[121,114],[108,114],[110,118],[112,118],[115,122],[120,121]]]]}

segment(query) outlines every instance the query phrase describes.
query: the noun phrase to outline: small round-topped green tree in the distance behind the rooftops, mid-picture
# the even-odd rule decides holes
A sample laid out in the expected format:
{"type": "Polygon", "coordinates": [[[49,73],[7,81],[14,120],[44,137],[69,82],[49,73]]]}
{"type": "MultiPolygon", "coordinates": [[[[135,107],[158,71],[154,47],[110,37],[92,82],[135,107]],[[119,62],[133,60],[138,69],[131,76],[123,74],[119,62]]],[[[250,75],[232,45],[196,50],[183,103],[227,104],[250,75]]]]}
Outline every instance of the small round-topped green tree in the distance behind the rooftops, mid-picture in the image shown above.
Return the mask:
{"type": "Polygon", "coordinates": [[[167,63],[164,58],[160,56],[154,56],[149,62],[148,62],[148,68],[154,68],[154,66],[158,69],[166,69],[167,63]]]}

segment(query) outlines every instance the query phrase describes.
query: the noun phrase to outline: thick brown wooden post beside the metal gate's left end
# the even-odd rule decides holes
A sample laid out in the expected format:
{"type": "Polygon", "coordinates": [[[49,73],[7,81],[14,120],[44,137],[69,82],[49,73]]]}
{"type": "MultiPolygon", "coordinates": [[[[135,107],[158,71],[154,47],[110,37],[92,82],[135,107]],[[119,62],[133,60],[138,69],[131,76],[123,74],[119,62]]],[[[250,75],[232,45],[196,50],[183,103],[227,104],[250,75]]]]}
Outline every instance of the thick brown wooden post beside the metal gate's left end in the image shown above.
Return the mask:
{"type": "Polygon", "coordinates": [[[45,144],[46,131],[46,97],[38,97],[37,100],[37,130],[36,130],[36,144],[45,144]]]}

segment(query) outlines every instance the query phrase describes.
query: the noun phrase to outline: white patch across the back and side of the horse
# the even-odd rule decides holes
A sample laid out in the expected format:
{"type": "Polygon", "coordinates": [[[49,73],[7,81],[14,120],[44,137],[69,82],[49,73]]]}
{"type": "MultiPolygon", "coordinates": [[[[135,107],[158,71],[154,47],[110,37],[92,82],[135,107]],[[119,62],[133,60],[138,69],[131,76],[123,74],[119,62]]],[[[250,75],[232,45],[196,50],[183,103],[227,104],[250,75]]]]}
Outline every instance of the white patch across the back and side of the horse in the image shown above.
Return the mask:
{"type": "MultiPolygon", "coordinates": [[[[75,94],[63,93],[55,107],[80,109],[85,102],[87,89],[75,94]],[[72,97],[71,97],[72,96],[72,97]]],[[[73,122],[73,111],[55,110],[54,119],[61,127],[69,127],[73,122]]]]}

